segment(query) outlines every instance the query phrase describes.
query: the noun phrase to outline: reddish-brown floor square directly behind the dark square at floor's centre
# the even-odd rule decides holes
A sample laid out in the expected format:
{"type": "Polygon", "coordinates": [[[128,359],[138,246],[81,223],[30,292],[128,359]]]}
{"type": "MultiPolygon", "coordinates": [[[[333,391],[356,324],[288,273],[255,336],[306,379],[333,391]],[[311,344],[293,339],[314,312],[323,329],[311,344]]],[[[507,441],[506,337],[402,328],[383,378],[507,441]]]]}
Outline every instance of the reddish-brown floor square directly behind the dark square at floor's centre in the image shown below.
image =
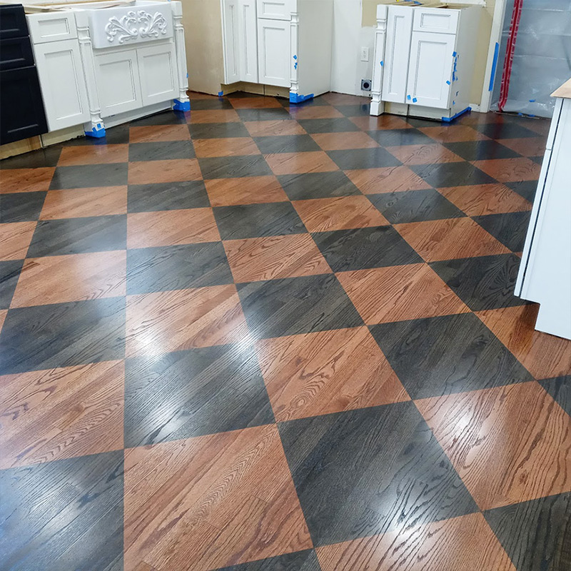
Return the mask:
{"type": "Polygon", "coordinates": [[[236,283],[331,271],[309,234],[227,240],[224,249],[236,283]]]}

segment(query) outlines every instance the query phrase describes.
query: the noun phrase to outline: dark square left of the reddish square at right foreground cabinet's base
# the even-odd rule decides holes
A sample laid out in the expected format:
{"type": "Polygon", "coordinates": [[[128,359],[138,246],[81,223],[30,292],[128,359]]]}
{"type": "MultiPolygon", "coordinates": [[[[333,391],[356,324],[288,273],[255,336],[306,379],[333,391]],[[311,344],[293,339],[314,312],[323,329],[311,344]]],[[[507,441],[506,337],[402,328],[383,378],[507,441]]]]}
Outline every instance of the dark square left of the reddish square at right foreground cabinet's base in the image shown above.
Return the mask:
{"type": "Polygon", "coordinates": [[[412,398],[532,378],[472,313],[381,323],[370,330],[412,398]]]}

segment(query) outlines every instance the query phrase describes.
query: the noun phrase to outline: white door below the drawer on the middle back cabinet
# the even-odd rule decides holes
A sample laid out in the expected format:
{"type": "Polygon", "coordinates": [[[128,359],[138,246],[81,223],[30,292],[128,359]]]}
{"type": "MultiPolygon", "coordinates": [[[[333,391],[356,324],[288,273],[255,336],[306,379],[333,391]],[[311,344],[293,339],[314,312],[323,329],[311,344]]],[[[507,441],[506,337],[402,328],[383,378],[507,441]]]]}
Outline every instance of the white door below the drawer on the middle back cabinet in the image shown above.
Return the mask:
{"type": "Polygon", "coordinates": [[[258,70],[261,84],[290,86],[290,24],[258,18],[258,70]]]}

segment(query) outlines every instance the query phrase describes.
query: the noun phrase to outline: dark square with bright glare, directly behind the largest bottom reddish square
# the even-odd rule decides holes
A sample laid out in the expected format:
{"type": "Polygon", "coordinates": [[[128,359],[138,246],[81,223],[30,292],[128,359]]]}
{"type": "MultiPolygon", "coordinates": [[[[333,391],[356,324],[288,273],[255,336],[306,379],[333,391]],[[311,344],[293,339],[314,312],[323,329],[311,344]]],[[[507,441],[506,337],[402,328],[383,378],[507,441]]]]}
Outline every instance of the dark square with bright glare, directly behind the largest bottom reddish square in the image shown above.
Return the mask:
{"type": "Polygon", "coordinates": [[[273,423],[251,348],[218,345],[126,360],[127,448],[273,423]]]}

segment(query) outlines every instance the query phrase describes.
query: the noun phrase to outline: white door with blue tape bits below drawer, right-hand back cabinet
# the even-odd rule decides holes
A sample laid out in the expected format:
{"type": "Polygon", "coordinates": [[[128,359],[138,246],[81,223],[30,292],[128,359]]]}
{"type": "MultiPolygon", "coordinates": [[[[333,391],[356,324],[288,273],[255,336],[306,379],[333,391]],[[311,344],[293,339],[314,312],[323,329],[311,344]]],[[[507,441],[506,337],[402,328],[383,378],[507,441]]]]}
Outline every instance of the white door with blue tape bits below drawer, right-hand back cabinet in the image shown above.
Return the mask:
{"type": "Polygon", "coordinates": [[[451,34],[413,32],[408,71],[408,103],[449,108],[455,40],[456,36],[451,34]]]}

